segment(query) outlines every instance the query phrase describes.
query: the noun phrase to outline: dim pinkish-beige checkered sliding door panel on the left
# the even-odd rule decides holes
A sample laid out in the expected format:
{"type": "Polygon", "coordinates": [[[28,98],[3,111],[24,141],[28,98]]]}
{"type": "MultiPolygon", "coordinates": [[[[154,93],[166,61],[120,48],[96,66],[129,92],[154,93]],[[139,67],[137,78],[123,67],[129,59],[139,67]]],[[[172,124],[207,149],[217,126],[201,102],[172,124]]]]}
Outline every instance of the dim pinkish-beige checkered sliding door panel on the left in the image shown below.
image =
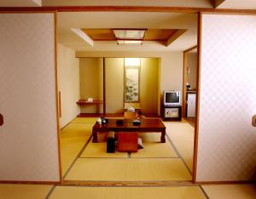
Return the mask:
{"type": "Polygon", "coordinates": [[[55,15],[0,14],[0,180],[58,181],[55,15]]]}

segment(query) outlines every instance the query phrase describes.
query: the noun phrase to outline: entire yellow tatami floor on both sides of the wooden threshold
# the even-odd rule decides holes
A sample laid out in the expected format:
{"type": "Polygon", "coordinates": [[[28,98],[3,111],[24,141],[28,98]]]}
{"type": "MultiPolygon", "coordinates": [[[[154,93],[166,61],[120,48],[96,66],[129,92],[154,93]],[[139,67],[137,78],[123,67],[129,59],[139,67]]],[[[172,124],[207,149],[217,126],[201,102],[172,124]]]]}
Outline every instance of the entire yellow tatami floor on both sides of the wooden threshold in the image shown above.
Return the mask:
{"type": "MultiPolygon", "coordinates": [[[[168,138],[140,134],[144,149],[137,153],[106,153],[106,143],[91,142],[96,118],[75,118],[61,130],[61,162],[64,180],[148,182],[145,187],[0,184],[2,199],[38,198],[256,198],[253,185],[185,185],[191,179],[194,128],[186,121],[165,122],[168,138]],[[167,187],[154,182],[176,182],[167,187]],[[150,183],[153,182],[153,185],[150,183]],[[181,183],[178,183],[181,182],[181,183]]],[[[68,181],[69,183],[71,181],[68,181]]]]}

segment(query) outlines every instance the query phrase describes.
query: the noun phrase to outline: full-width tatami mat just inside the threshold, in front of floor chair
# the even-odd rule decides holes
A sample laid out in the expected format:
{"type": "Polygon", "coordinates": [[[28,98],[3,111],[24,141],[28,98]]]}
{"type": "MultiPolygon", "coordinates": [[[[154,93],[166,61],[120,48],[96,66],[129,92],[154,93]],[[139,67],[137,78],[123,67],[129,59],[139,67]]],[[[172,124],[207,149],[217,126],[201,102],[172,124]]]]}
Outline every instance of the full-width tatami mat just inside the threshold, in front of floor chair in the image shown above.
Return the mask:
{"type": "Polygon", "coordinates": [[[191,180],[180,158],[79,158],[65,178],[83,181],[191,180]]]}

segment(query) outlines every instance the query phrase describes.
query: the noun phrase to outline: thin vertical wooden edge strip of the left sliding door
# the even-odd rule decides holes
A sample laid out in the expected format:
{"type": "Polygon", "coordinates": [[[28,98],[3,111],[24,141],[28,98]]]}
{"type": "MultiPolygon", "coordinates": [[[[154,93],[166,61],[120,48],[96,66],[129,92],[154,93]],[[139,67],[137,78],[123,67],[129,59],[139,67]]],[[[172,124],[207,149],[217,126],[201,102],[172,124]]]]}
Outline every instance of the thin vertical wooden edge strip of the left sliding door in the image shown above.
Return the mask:
{"type": "Polygon", "coordinates": [[[61,168],[61,129],[60,129],[60,111],[61,107],[59,106],[59,94],[58,94],[58,62],[57,62],[57,12],[55,12],[55,98],[56,98],[56,117],[57,117],[57,141],[58,141],[58,156],[59,156],[59,177],[61,182],[62,168],[61,168]]]}

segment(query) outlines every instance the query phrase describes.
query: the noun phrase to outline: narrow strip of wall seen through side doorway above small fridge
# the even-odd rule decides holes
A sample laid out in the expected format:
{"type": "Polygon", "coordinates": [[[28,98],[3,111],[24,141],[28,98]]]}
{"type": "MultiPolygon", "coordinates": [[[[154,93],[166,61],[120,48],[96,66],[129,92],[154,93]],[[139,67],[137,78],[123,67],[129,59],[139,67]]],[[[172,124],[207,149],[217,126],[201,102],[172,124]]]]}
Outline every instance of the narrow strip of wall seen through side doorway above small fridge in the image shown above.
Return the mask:
{"type": "Polygon", "coordinates": [[[187,75],[187,82],[189,82],[191,89],[196,89],[196,80],[197,80],[197,54],[189,53],[188,54],[188,67],[189,74],[187,75]]]}

